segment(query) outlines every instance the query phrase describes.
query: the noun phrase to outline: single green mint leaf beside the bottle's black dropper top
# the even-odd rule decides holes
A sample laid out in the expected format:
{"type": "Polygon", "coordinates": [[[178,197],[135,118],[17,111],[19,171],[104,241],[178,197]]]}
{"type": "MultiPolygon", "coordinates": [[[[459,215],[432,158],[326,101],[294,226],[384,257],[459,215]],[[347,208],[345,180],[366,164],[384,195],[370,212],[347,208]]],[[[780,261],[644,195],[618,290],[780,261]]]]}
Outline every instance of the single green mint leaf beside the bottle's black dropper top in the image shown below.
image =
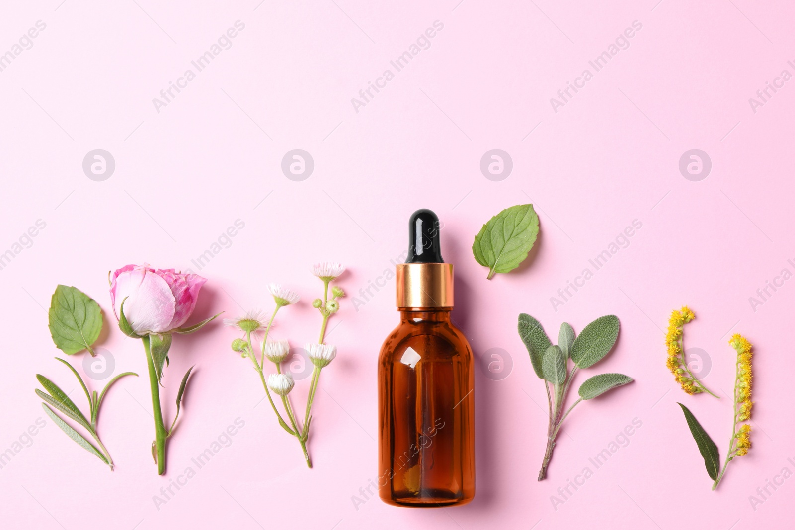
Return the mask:
{"type": "Polygon", "coordinates": [[[532,204],[518,204],[494,215],[483,225],[472,253],[475,261],[489,268],[488,278],[494,273],[507,273],[525,261],[538,235],[538,215],[532,204]]]}

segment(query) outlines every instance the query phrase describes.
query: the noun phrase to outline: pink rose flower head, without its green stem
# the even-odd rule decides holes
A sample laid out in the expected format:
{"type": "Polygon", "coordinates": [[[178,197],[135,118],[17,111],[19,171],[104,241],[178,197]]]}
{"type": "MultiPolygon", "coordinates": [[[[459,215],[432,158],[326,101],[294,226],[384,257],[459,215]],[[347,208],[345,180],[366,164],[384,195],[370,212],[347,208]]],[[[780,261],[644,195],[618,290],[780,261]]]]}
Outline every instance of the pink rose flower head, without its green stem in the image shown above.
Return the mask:
{"type": "Polygon", "coordinates": [[[174,269],[125,265],[111,277],[113,312],[118,319],[124,302],[124,315],[138,335],[171,331],[188,320],[206,281],[174,269]]]}

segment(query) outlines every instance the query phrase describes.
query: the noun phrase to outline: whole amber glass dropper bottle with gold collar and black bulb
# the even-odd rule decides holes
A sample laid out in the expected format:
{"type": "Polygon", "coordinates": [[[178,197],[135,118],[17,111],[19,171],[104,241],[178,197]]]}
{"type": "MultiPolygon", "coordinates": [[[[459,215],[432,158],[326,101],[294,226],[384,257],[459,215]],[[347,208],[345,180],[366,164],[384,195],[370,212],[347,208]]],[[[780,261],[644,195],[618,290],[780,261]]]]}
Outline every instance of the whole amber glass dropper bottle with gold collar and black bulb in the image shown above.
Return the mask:
{"type": "Polygon", "coordinates": [[[472,350],[450,319],[452,265],[432,211],[411,216],[409,243],[400,324],[378,359],[378,489],[391,505],[460,505],[475,496],[472,350]]]}

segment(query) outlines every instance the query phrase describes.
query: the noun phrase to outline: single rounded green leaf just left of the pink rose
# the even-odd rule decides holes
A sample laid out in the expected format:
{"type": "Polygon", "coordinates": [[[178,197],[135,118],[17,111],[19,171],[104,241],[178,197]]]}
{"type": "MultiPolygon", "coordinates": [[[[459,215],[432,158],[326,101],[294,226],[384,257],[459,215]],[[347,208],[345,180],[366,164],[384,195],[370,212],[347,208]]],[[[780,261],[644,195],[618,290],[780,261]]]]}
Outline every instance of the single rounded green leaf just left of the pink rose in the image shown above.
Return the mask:
{"type": "Polygon", "coordinates": [[[95,300],[79,288],[58,285],[52,294],[48,315],[52,342],[64,354],[88,350],[94,355],[91,345],[102,331],[102,311],[95,300]]]}

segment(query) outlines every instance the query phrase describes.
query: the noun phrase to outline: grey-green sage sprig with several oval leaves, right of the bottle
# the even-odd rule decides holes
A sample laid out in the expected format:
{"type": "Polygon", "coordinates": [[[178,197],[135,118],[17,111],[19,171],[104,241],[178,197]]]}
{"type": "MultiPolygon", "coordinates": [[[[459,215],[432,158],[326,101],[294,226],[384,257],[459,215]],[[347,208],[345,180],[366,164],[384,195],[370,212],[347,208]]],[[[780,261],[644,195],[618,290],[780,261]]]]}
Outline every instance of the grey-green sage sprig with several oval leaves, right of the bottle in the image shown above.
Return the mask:
{"type": "Polygon", "coordinates": [[[557,345],[553,345],[549,340],[541,323],[525,313],[519,315],[518,331],[527,348],[533,371],[544,381],[549,402],[547,444],[541,470],[538,473],[538,480],[541,481],[546,477],[560,426],[576,405],[581,401],[601,396],[618,386],[626,385],[633,379],[622,373],[600,373],[589,377],[577,390],[580,399],[564,412],[564,404],[575,373],[578,369],[590,368],[610,353],[619,336],[619,319],[615,315],[595,319],[584,327],[579,336],[576,336],[574,329],[564,322],[560,325],[557,345]],[[573,365],[571,369],[568,367],[569,360],[573,365]]]}

